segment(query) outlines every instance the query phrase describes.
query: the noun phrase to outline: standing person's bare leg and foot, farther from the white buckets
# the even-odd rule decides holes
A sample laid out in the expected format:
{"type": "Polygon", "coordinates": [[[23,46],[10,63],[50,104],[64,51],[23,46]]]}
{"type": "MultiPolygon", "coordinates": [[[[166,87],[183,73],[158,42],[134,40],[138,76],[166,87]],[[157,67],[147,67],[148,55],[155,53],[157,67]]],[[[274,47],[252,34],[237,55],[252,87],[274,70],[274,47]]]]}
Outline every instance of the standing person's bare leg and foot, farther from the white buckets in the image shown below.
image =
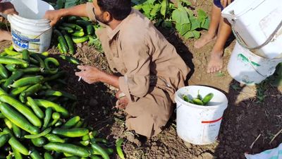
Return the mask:
{"type": "Polygon", "coordinates": [[[194,44],[194,47],[200,49],[207,43],[211,42],[212,40],[216,39],[216,31],[219,27],[219,23],[221,20],[221,8],[217,6],[212,6],[212,17],[211,23],[209,24],[209,31],[207,34],[203,35],[199,40],[197,40],[194,44]]]}

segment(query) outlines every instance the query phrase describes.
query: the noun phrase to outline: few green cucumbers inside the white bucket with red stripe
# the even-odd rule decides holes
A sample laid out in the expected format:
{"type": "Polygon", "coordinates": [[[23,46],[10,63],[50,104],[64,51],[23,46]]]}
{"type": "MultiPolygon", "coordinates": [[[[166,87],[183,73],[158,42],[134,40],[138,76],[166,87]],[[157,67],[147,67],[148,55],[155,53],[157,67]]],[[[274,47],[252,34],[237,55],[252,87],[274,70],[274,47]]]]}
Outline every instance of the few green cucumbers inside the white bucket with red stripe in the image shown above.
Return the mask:
{"type": "Polygon", "coordinates": [[[214,93],[209,93],[205,95],[203,98],[202,95],[200,95],[199,90],[198,90],[198,94],[196,98],[189,98],[189,95],[182,95],[182,98],[185,102],[190,102],[194,105],[207,106],[209,102],[212,100],[212,98],[214,98],[214,93]]]}

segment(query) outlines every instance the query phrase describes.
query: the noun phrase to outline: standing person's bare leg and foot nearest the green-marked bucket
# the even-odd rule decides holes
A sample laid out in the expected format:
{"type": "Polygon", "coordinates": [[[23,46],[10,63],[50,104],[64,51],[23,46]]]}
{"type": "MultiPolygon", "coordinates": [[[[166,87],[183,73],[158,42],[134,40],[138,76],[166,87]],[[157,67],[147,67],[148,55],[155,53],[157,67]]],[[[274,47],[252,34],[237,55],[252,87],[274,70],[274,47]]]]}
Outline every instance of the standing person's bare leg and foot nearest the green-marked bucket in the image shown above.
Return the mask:
{"type": "Polygon", "coordinates": [[[207,65],[207,73],[212,73],[216,71],[220,71],[223,66],[223,49],[228,40],[229,35],[231,35],[231,26],[229,25],[227,20],[223,20],[221,18],[221,22],[219,23],[219,33],[216,39],[216,44],[212,49],[209,64],[207,65]]]}

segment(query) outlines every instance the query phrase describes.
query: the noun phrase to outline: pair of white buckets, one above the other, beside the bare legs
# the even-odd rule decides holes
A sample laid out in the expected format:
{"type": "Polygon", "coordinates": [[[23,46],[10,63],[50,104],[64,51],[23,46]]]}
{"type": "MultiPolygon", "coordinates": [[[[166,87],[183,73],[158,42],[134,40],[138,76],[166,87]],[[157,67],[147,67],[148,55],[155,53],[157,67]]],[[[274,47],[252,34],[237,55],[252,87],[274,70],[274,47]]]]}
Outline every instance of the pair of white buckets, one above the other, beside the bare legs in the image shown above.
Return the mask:
{"type": "Polygon", "coordinates": [[[281,0],[235,0],[221,14],[240,37],[228,63],[230,75],[247,85],[271,76],[282,62],[281,0]],[[258,46],[263,47],[250,50],[258,46]]]}

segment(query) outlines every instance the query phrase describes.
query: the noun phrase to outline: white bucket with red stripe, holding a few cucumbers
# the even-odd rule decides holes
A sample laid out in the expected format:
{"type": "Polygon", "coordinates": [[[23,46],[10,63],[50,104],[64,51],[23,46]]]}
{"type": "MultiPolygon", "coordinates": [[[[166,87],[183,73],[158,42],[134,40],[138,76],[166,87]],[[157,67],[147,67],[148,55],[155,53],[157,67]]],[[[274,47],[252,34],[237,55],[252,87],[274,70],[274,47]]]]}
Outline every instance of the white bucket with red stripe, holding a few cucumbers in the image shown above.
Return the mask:
{"type": "Polygon", "coordinates": [[[183,141],[205,145],[216,141],[223,112],[226,110],[228,100],[219,90],[207,86],[187,86],[176,92],[176,131],[183,141]],[[214,93],[214,98],[208,106],[194,105],[185,102],[183,95],[197,97],[197,93],[204,97],[214,93]]]}

